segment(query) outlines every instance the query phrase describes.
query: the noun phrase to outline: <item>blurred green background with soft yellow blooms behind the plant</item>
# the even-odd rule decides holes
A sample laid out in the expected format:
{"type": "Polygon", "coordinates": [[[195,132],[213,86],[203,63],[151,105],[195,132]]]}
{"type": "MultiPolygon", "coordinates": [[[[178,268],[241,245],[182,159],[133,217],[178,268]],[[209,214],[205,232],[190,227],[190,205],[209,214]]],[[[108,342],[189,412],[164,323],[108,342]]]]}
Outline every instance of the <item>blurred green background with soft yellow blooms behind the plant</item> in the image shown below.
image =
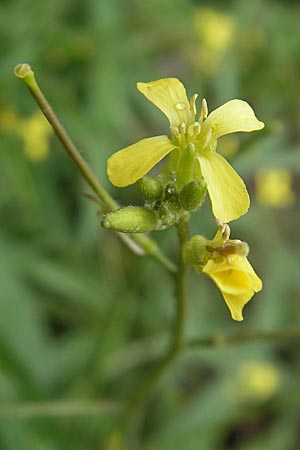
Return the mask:
{"type": "MultiPolygon", "coordinates": [[[[232,237],[249,242],[264,290],[235,323],[212,282],[191,273],[186,335],[274,330],[300,320],[299,21],[297,1],[1,0],[1,450],[120,450],[113,405],[91,408],[132,395],[174,313],[170,277],[101,229],[88,187],[14,66],[33,66],[124,204],[138,203],[137,192],[109,185],[107,157],[168,126],[137,81],[178,77],[210,110],[232,98],[251,104],[265,130],[224,138],[219,149],[250,191],[232,237]],[[51,415],[57,400],[67,410],[51,415]]],[[[208,201],[192,230],[213,236],[208,201]]],[[[177,257],[174,230],[153,237],[177,257]]],[[[298,450],[299,369],[293,341],[186,353],[148,408],[141,449],[298,450]]]]}

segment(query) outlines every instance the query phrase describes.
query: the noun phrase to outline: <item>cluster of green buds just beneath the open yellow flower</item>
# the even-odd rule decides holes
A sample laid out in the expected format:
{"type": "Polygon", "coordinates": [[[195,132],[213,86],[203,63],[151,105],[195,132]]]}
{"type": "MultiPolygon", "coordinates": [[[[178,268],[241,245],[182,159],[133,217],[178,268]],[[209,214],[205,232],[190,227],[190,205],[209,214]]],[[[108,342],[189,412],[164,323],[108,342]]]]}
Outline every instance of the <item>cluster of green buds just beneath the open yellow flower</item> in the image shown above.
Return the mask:
{"type": "Polygon", "coordinates": [[[102,221],[105,228],[122,233],[166,229],[198,209],[207,191],[204,180],[188,181],[178,189],[174,174],[166,171],[157,178],[144,176],[137,187],[143,206],[126,206],[107,213],[102,221]]]}

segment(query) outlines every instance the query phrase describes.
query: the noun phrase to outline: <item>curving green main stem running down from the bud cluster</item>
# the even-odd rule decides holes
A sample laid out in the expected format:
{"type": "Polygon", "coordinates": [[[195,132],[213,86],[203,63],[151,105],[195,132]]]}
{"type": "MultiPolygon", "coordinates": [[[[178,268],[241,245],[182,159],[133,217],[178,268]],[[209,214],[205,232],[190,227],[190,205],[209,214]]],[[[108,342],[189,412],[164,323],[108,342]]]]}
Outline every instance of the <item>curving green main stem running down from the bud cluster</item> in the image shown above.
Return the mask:
{"type": "Polygon", "coordinates": [[[169,348],[166,353],[156,362],[152,372],[144,380],[144,383],[137,390],[133,398],[130,400],[126,411],[125,422],[128,431],[128,448],[134,450],[138,445],[139,434],[143,422],[145,409],[153,390],[166,370],[176,359],[181,349],[184,348],[184,323],[186,312],[186,274],[187,266],[182,258],[182,248],[188,239],[188,224],[182,218],[176,225],[179,240],[179,261],[178,269],[175,276],[176,288],[176,310],[172,336],[169,348]]]}

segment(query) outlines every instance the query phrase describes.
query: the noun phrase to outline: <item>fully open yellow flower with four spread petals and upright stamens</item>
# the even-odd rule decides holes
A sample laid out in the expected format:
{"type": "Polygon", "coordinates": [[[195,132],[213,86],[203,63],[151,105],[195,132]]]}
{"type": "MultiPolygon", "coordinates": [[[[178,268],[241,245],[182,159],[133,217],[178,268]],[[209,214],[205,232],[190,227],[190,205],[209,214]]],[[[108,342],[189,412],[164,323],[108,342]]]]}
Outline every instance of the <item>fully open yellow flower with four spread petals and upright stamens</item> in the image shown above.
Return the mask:
{"type": "Polygon", "coordinates": [[[138,83],[137,88],[167,116],[171,139],[167,136],[142,139],[112,155],[107,165],[110,181],[115,186],[128,186],[175,149],[179,150],[175,167],[175,172],[179,173],[180,159],[192,146],[195,150],[194,174],[203,177],[207,183],[215,217],[229,222],[245,214],[249,208],[245,184],[230,164],[216,153],[216,144],[217,139],[226,134],[264,127],[251,107],[242,100],[231,100],[208,115],[203,100],[196,119],[197,95],[189,101],[178,79],[138,83]]]}

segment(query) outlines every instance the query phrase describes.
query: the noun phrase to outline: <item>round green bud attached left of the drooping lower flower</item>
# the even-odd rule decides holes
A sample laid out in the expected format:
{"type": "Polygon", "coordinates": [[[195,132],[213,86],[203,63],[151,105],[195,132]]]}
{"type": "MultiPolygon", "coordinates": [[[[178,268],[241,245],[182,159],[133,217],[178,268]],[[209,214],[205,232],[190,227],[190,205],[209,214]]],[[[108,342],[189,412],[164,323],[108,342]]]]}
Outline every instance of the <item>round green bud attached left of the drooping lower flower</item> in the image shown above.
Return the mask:
{"type": "Polygon", "coordinates": [[[206,250],[207,243],[207,239],[203,236],[193,236],[183,247],[182,257],[184,263],[201,272],[202,267],[209,258],[209,253],[206,250]]]}

